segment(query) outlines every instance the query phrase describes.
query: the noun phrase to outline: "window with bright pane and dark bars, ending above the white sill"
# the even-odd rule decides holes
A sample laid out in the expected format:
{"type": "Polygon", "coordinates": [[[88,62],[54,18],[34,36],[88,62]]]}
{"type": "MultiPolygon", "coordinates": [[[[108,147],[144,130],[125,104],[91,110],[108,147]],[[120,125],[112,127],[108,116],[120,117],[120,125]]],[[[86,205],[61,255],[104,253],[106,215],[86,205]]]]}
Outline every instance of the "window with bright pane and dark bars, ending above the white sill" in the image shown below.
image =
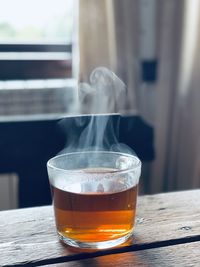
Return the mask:
{"type": "Polygon", "coordinates": [[[0,80],[72,75],[73,0],[0,0],[0,80]]]}

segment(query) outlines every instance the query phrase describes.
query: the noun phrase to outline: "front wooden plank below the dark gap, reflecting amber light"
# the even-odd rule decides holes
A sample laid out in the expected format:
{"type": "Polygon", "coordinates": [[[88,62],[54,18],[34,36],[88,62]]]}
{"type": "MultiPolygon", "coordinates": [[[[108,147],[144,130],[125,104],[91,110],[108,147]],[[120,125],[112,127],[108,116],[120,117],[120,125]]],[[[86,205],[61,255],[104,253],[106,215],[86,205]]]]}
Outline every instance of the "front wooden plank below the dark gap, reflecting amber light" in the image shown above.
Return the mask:
{"type": "Polygon", "coordinates": [[[198,242],[165,248],[100,256],[68,263],[45,265],[45,267],[191,267],[200,266],[198,242]]]}

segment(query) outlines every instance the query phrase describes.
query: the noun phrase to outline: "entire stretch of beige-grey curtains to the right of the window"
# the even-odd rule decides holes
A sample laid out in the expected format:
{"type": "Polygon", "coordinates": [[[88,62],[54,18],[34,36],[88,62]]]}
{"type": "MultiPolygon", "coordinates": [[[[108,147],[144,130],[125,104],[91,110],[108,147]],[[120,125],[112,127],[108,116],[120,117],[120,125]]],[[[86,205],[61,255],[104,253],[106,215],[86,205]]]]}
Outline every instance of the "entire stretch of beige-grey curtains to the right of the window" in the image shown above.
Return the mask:
{"type": "Polygon", "coordinates": [[[154,84],[138,80],[140,8],[145,0],[81,0],[80,79],[97,66],[127,84],[126,109],[154,127],[156,158],[144,193],[200,186],[200,1],[155,0],[154,84]]]}

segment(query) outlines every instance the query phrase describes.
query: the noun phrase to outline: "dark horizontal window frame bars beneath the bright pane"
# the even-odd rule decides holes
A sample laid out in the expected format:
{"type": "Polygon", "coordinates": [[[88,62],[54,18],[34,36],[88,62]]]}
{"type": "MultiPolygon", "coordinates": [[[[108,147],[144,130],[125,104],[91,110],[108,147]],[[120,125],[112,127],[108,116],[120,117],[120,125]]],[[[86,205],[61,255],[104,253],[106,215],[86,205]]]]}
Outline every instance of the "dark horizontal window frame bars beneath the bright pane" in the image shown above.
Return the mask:
{"type": "Polygon", "coordinates": [[[72,44],[0,44],[0,80],[62,79],[71,77],[72,44]],[[17,58],[12,57],[13,53],[15,55],[17,53],[17,58]],[[21,58],[20,53],[23,53],[21,58]],[[32,55],[31,58],[30,53],[32,55]],[[42,55],[45,55],[44,58],[42,55]]]}

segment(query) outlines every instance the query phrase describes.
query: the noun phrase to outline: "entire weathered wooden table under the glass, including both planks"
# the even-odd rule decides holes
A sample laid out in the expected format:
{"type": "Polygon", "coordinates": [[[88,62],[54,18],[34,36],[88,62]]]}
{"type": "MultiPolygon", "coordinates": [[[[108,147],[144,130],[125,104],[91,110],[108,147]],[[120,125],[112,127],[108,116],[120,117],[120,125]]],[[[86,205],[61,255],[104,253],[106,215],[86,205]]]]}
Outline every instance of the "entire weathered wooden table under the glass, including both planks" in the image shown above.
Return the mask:
{"type": "Polygon", "coordinates": [[[139,197],[132,240],[99,251],[59,242],[50,206],[2,211],[0,266],[200,266],[200,190],[139,197]]]}

